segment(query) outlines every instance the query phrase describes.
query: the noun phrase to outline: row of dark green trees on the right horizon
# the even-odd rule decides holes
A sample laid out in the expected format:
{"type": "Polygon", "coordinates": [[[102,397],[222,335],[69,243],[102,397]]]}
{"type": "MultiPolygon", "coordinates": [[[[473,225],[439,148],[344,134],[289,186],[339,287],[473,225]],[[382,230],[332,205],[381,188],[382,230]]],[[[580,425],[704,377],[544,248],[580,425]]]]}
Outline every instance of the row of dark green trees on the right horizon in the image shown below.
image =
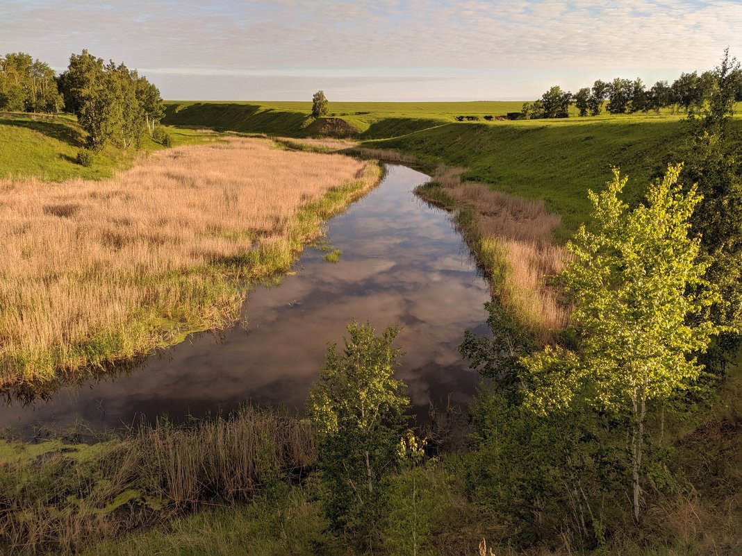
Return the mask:
{"type": "MultiPolygon", "coordinates": [[[[742,102],[742,71],[737,69],[729,76],[733,83],[736,102],[742,102]]],[[[598,79],[592,87],[582,87],[577,93],[550,87],[540,99],[523,105],[522,119],[567,118],[569,108],[574,106],[580,116],[597,116],[603,111],[611,114],[659,113],[663,108],[693,113],[701,110],[718,90],[717,70],[703,73],[682,73],[669,83],[658,81],[647,88],[637,79],[617,77],[611,82],[598,79]],[[607,103],[607,104],[606,104],[607,103]]]]}

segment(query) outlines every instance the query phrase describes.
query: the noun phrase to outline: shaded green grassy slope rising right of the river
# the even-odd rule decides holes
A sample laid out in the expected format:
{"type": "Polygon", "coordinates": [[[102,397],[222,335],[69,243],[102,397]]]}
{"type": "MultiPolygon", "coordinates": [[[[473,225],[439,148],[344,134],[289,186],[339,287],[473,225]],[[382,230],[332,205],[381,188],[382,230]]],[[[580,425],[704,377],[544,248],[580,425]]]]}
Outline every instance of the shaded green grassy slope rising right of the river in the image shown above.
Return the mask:
{"type": "Polygon", "coordinates": [[[586,192],[602,188],[612,166],[628,174],[627,191],[636,196],[668,162],[680,162],[683,128],[677,116],[456,123],[364,146],[468,168],[464,179],[544,199],[564,220],[563,239],[585,221],[586,192]]]}

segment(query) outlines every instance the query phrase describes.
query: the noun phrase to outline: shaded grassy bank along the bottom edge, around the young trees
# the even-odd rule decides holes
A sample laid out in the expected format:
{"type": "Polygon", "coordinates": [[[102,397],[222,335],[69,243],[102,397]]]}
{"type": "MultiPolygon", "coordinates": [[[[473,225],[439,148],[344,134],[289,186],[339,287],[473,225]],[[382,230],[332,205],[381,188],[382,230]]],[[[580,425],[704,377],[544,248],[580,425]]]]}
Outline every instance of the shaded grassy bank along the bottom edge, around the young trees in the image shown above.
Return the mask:
{"type": "MultiPolygon", "coordinates": [[[[681,486],[672,494],[660,489],[646,493],[641,527],[631,523],[626,511],[623,523],[606,531],[598,546],[576,542],[566,531],[548,546],[537,541],[524,546],[513,523],[488,507],[487,500],[472,496],[467,486],[470,456],[445,454],[389,478],[390,497],[373,553],[475,556],[481,554],[479,546],[485,539],[493,554],[502,556],[736,554],[740,548],[741,509],[736,493],[742,486],[742,450],[741,439],[733,431],[742,420],[741,387],[742,366],[738,364],[717,403],[704,406],[690,419],[668,420],[662,443],[674,454],[681,486]]],[[[272,483],[247,503],[179,517],[93,546],[85,554],[358,554],[342,538],[326,532],[321,496],[311,478],[303,486],[272,483]]]]}

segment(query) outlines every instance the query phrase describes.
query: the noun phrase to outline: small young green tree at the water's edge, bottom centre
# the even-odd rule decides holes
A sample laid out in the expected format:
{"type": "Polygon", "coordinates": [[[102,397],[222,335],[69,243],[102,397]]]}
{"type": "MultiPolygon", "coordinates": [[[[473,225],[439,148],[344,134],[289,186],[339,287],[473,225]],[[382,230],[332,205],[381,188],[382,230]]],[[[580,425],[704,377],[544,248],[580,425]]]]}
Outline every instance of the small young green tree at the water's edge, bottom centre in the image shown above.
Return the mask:
{"type": "Polygon", "coordinates": [[[394,378],[398,328],[378,337],[352,322],[338,354],[331,345],[320,380],[309,392],[309,415],[326,486],[324,510],[335,532],[368,539],[384,498],[382,478],[394,468],[409,400],[394,378]]]}

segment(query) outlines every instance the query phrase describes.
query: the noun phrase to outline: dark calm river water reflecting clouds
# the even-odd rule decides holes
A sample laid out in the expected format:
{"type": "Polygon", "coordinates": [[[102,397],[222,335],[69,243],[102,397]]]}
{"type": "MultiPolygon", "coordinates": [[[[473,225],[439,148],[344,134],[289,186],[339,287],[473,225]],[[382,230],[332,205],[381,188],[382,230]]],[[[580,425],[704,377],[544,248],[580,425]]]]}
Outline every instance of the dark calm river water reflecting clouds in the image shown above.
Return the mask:
{"type": "Polygon", "coordinates": [[[296,274],[249,295],[246,326],[195,334],[125,374],[66,386],[51,400],[2,401],[0,428],[78,419],[116,427],[162,414],[179,421],[246,400],[301,410],[327,343],[341,344],[349,320],[404,327],[398,377],[418,413],[449,395],[465,402],[478,379],[456,348],[464,330],[485,328],[487,283],[447,214],[413,195],[427,176],[388,170],[378,188],[328,223],[340,262],[307,248],[296,274]]]}

